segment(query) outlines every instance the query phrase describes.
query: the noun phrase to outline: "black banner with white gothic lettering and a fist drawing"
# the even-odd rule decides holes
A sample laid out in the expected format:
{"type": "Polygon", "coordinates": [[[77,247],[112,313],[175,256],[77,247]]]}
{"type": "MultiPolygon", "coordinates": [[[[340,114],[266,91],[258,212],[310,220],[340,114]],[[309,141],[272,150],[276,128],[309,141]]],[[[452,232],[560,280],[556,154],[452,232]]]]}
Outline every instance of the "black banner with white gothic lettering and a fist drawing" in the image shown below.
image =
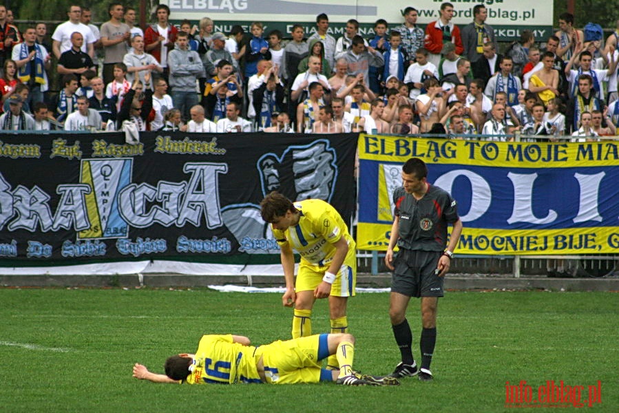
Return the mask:
{"type": "Polygon", "coordinates": [[[326,200],[350,222],[356,148],[357,134],[4,134],[0,266],[279,262],[264,195],[326,200]]]}

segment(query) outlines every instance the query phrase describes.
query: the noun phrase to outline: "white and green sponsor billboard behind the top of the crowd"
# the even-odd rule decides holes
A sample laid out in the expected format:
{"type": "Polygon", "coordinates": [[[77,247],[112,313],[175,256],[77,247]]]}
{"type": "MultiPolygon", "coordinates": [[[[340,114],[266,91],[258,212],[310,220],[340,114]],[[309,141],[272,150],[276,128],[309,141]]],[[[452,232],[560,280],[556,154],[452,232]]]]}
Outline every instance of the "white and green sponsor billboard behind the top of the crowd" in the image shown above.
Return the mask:
{"type": "MultiPolygon", "coordinates": [[[[414,7],[419,13],[417,23],[422,29],[439,19],[441,3],[454,6],[453,21],[461,28],[473,21],[473,8],[481,4],[487,9],[487,23],[495,30],[497,40],[514,41],[522,30],[534,32],[536,39],[547,39],[554,34],[552,1],[538,0],[417,0],[414,7]]],[[[402,12],[410,4],[397,1],[385,3],[374,0],[165,0],[170,8],[170,18],[175,23],[188,19],[197,23],[202,17],[214,21],[215,31],[228,34],[233,25],[241,25],[251,33],[253,21],[260,21],[264,34],[280,30],[289,37],[292,26],[301,24],[307,36],[316,30],[316,16],[326,13],[329,17],[329,34],[337,39],[344,35],[346,21],[359,21],[359,34],[373,36],[374,23],[385,19],[389,28],[401,25],[402,12]]]]}

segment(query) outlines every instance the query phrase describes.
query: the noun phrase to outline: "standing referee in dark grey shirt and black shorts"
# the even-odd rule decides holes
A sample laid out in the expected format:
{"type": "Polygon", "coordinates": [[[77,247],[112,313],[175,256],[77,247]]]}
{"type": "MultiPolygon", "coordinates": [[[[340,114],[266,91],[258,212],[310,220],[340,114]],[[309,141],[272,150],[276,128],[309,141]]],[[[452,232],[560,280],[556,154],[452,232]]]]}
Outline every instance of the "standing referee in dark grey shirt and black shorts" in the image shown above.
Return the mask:
{"type": "Polygon", "coordinates": [[[456,201],[443,189],[426,182],[427,176],[428,167],[421,159],[410,158],[403,165],[403,186],[393,191],[395,218],[385,255],[385,263],[393,271],[389,317],[402,357],[391,376],[419,373],[423,381],[433,379],[430,363],[437,341],[437,306],[439,297],[443,297],[443,276],[449,271],[462,232],[456,201]],[[448,224],[453,224],[453,229],[445,250],[448,224]],[[396,242],[399,252],[394,260],[396,242]],[[410,297],[421,297],[419,370],[412,357],[412,332],[406,319],[410,297]]]}

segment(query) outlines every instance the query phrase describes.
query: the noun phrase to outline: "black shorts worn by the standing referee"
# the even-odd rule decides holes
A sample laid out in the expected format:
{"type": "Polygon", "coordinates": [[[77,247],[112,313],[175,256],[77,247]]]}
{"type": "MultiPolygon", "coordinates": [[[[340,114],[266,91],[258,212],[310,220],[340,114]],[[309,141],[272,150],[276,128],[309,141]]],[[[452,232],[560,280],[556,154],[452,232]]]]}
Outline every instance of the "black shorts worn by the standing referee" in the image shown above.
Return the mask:
{"type": "Polygon", "coordinates": [[[436,272],[443,251],[400,248],[393,266],[391,292],[408,297],[443,297],[443,280],[436,272]]]}

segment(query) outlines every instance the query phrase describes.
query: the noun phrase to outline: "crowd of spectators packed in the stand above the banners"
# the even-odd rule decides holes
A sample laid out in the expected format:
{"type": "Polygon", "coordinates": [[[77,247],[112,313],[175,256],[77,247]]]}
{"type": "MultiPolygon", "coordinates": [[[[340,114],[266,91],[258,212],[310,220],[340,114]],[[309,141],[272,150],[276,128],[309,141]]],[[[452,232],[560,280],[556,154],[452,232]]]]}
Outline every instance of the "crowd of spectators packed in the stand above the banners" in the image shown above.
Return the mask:
{"type": "Polygon", "coordinates": [[[614,136],[619,126],[619,21],[603,39],[563,13],[555,34],[535,39],[523,30],[500,54],[481,4],[462,27],[451,3],[425,28],[407,7],[403,22],[379,19],[368,39],[355,19],[335,39],[324,13],[307,38],[300,24],[286,34],[265,34],[260,22],[251,33],[235,25],[224,34],[204,17],[177,28],[165,5],[146,28],[121,3],[108,13],[97,28],[90,10],[70,6],[50,42],[45,23],[20,32],[0,6],[0,129],[580,141],[614,136]],[[50,91],[52,63],[58,92],[50,91]]]}

